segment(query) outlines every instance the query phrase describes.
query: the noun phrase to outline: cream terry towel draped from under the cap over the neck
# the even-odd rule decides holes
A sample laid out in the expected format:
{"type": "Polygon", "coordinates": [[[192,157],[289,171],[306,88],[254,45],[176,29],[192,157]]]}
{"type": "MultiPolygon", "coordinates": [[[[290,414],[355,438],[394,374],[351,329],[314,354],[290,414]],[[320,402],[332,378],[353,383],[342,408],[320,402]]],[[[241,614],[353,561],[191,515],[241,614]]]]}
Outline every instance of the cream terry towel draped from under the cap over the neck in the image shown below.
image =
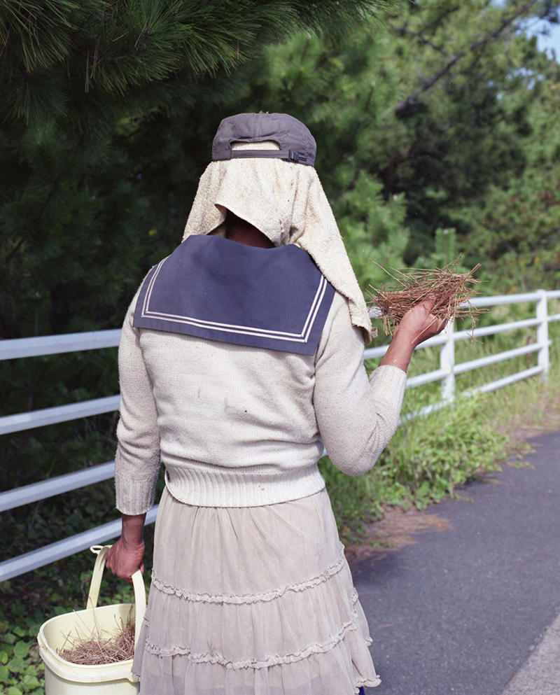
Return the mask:
{"type": "MultiPolygon", "coordinates": [[[[235,149],[278,149],[272,141],[234,143],[235,149]]],[[[183,241],[191,234],[225,234],[228,210],[247,220],[274,246],[297,244],[325,278],[349,301],[353,325],[364,343],[372,329],[335,216],[314,167],[281,159],[251,157],[211,162],[200,177],[183,241]]]]}

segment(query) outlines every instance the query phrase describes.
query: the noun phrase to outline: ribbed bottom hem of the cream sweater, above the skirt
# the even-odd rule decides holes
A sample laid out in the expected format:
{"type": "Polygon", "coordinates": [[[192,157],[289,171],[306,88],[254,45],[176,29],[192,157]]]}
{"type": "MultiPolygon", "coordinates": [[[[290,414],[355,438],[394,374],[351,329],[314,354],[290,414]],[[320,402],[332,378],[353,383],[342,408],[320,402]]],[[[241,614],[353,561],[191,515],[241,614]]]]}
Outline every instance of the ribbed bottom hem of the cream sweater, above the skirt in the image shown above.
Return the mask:
{"type": "Polygon", "coordinates": [[[325,487],[316,463],[294,470],[269,465],[218,468],[198,461],[164,464],[169,493],[179,502],[197,507],[275,505],[309,497],[325,487]]]}

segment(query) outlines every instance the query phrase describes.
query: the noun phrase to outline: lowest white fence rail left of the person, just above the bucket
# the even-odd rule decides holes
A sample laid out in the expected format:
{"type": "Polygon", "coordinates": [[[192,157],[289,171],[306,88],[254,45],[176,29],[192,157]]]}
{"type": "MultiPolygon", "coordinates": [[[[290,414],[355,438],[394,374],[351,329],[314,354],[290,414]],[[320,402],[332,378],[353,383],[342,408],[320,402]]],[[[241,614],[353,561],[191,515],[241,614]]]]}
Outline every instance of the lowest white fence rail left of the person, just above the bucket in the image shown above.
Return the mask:
{"type": "MultiPolygon", "coordinates": [[[[155,505],[146,514],[146,524],[153,524],[155,517],[158,516],[159,506],[155,505]]],[[[71,535],[69,538],[57,540],[57,542],[50,543],[42,548],[4,560],[0,562],[0,582],[5,582],[25,572],[49,565],[51,562],[62,560],[69,555],[80,552],[80,550],[89,548],[90,545],[98,545],[112,538],[118,538],[120,536],[121,523],[120,519],[108,521],[101,526],[95,526],[87,531],[82,531],[82,533],[71,535]]]]}

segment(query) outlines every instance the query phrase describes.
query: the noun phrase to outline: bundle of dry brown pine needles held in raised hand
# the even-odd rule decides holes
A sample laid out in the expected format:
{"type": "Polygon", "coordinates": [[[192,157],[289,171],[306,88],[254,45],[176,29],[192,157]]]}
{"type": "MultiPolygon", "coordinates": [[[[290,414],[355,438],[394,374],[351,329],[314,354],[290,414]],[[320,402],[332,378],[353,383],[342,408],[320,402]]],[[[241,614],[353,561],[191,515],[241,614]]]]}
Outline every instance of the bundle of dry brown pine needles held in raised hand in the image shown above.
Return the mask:
{"type": "Polygon", "coordinates": [[[390,286],[379,289],[370,285],[374,290],[370,293],[371,308],[377,309],[379,316],[383,318],[385,335],[393,335],[393,329],[399,325],[407,311],[428,297],[434,300],[430,313],[436,318],[449,321],[451,318],[468,317],[472,323],[471,328],[475,328],[477,316],[482,311],[475,309],[470,300],[480,294],[472,288],[480,282],[473,277],[480,264],[477,263],[468,273],[458,273],[456,267],[460,258],[442,268],[391,268],[395,275],[376,263],[395,281],[390,286]]]}

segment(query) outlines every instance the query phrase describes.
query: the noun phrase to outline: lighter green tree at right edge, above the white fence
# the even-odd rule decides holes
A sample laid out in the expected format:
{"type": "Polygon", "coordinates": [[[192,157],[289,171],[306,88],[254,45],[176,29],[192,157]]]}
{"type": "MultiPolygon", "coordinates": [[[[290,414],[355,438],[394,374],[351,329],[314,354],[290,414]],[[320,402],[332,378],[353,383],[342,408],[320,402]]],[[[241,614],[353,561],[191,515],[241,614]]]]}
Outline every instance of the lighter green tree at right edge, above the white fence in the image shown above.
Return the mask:
{"type": "Polygon", "coordinates": [[[531,292],[560,282],[560,66],[551,62],[531,86],[526,161],[507,185],[491,185],[463,211],[472,254],[484,258],[487,291],[531,292]]]}

